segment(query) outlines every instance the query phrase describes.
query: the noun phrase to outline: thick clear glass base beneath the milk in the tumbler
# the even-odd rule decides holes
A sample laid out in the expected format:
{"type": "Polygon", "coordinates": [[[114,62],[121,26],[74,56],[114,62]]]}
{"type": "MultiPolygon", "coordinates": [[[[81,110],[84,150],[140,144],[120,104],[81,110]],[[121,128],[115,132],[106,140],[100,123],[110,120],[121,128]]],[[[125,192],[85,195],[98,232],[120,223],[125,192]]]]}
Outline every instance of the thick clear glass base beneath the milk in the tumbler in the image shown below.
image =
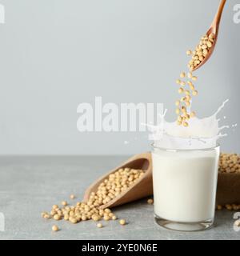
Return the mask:
{"type": "Polygon", "coordinates": [[[214,225],[214,219],[203,222],[172,222],[155,215],[155,221],[159,226],[167,230],[194,232],[209,230],[214,225]]]}

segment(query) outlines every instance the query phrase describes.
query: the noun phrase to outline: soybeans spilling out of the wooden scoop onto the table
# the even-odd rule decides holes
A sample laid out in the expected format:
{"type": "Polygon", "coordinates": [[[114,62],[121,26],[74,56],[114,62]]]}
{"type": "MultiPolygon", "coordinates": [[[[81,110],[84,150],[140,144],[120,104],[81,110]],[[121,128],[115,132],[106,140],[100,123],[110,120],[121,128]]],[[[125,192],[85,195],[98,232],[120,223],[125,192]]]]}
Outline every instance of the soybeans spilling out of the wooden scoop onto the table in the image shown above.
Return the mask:
{"type": "MultiPolygon", "coordinates": [[[[102,219],[104,221],[117,220],[117,216],[108,208],[101,209],[100,206],[110,202],[119,194],[128,190],[139,178],[145,174],[144,170],[135,170],[130,168],[121,168],[110,174],[104,182],[98,186],[98,190],[90,194],[87,202],[77,202],[74,206],[70,206],[66,201],[62,201],[62,206],[54,205],[50,212],[42,212],[42,218],[54,219],[56,221],[65,220],[76,224],[78,222],[93,220],[97,223],[98,228],[102,228],[102,219]]],[[[75,196],[70,195],[70,199],[75,196]]],[[[153,200],[148,200],[149,204],[153,204],[153,200]]],[[[125,225],[126,220],[120,219],[119,224],[125,225]]],[[[52,226],[53,231],[58,231],[58,226],[52,226]]]]}

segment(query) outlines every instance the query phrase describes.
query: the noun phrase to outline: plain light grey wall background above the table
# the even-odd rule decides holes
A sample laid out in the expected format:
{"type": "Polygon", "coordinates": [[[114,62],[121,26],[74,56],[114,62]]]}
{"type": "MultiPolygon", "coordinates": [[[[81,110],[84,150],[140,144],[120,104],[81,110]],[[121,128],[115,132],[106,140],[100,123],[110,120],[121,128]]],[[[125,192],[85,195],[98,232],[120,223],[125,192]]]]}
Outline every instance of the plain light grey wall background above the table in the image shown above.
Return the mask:
{"type": "MultiPolygon", "coordinates": [[[[135,154],[146,134],[81,134],[77,106],[162,102],[174,118],[174,81],[186,50],[205,33],[218,0],[1,0],[0,154],[135,154]],[[130,144],[125,145],[124,141],[130,144]]],[[[218,46],[198,71],[194,108],[203,117],[226,99],[224,123],[239,123],[240,24],[227,1],[218,46]]],[[[240,153],[239,130],[222,149],[240,153]]]]}

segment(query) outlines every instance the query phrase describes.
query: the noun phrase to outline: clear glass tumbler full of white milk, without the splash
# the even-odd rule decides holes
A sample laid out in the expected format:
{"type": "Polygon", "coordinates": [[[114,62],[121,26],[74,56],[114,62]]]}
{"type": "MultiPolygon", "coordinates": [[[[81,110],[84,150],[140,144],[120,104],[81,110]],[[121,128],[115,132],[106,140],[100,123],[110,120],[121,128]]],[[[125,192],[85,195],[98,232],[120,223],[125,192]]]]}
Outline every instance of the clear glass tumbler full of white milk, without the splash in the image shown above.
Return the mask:
{"type": "Polygon", "coordinates": [[[206,230],[214,224],[219,146],[167,150],[153,146],[154,214],[170,230],[206,230]]]}

